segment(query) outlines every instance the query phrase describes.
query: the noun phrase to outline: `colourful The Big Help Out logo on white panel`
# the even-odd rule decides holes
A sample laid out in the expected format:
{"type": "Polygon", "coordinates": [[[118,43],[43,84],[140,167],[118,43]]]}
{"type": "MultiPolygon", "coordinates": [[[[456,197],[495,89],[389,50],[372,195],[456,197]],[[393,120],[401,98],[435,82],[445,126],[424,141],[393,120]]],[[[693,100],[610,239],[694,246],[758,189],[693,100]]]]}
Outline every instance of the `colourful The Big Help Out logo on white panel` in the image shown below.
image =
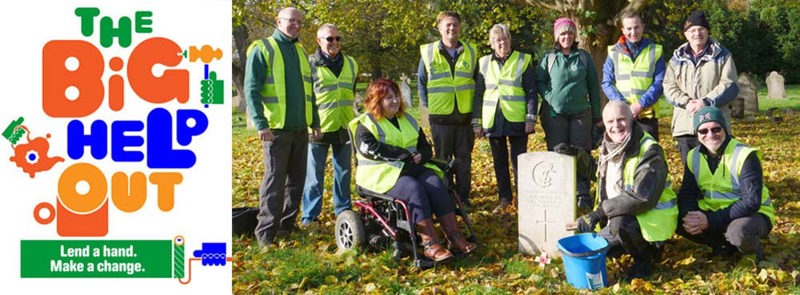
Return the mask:
{"type": "Polygon", "coordinates": [[[230,2],[145,4],[60,9],[34,108],[0,117],[23,285],[230,286],[230,2]]]}

